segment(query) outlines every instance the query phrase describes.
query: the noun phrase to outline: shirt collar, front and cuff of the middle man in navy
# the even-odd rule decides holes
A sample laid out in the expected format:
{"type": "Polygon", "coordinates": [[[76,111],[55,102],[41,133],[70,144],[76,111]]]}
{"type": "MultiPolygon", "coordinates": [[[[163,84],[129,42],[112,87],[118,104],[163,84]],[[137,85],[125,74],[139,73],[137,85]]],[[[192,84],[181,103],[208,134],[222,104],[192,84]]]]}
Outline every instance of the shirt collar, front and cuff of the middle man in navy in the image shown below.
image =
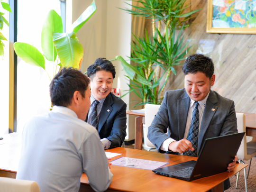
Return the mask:
{"type": "MultiPolygon", "coordinates": [[[[101,114],[101,109],[102,109],[102,106],[103,106],[103,103],[104,103],[105,99],[106,98],[103,98],[103,99],[99,100],[100,103],[97,105],[97,113],[98,113],[97,119],[98,119],[98,122],[99,122],[99,118],[100,118],[100,114],[101,114]]],[[[91,94],[90,100],[91,100],[91,106],[90,106],[90,109],[89,109],[89,112],[88,112],[88,121],[87,122],[91,125],[91,114],[93,112],[92,110],[93,110],[93,106],[94,106],[93,105],[93,101],[95,101],[95,99],[92,96],[92,94],[91,94]]],[[[111,141],[109,139],[102,138],[101,139],[101,143],[102,143],[104,149],[110,148],[111,141]]]]}

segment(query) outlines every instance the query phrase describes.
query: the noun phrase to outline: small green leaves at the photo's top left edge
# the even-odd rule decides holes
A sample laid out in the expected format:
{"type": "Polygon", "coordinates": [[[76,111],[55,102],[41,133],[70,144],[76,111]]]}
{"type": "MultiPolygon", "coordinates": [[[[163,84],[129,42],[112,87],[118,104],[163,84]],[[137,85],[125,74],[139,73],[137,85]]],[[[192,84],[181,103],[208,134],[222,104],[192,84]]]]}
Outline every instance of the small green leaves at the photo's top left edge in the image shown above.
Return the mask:
{"type": "MultiPolygon", "coordinates": [[[[2,8],[11,12],[11,9],[8,5],[8,3],[5,2],[1,2],[2,8]]],[[[6,20],[6,18],[3,16],[4,13],[0,12],[0,31],[3,29],[4,23],[9,26],[8,21],[6,20]]],[[[7,39],[3,36],[3,34],[0,32],[0,56],[4,56],[4,43],[2,41],[7,41],[7,39]]]]}

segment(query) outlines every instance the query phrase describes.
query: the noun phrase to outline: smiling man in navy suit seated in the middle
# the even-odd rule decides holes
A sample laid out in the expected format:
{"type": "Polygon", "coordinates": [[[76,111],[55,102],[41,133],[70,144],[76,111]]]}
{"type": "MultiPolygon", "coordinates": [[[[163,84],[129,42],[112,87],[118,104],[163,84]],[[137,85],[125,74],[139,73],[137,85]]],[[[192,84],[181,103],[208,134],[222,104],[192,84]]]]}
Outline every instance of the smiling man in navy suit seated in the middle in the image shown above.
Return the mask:
{"type": "Polygon", "coordinates": [[[91,106],[85,122],[98,130],[104,149],[121,146],[126,137],[126,103],[111,93],[115,75],[115,66],[106,58],[87,68],[91,106]]]}

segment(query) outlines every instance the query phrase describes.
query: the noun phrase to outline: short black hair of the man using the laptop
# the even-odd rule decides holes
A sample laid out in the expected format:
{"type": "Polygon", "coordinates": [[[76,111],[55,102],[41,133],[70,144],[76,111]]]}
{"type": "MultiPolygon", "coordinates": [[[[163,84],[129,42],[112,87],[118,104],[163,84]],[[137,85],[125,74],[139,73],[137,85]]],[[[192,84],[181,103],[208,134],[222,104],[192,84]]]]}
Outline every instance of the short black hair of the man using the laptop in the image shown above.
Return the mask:
{"type": "Polygon", "coordinates": [[[184,75],[188,73],[204,73],[208,78],[214,73],[214,64],[210,57],[202,54],[190,55],[184,62],[182,71],[184,75]]]}

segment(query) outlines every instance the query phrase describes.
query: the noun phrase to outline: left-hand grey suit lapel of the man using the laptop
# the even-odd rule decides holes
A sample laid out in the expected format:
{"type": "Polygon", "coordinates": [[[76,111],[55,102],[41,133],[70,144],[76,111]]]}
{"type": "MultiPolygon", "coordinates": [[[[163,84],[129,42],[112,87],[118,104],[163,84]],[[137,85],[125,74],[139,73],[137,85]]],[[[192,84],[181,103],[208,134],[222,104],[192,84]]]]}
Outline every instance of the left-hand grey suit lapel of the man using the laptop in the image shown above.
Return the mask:
{"type": "Polygon", "coordinates": [[[184,138],[189,104],[190,104],[190,98],[188,94],[184,92],[183,95],[181,96],[181,99],[177,101],[179,140],[184,138]]]}

